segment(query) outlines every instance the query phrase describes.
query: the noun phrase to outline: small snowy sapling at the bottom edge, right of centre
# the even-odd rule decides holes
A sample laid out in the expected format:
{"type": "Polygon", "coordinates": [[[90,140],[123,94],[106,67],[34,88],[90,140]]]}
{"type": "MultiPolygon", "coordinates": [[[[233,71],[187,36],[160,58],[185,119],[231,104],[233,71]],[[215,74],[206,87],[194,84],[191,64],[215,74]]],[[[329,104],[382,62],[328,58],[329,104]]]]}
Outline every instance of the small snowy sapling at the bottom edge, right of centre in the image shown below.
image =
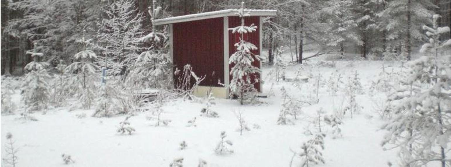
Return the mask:
{"type": "Polygon", "coordinates": [[[301,152],[298,156],[301,160],[301,167],[309,167],[310,164],[325,163],[322,157],[324,149],[324,134],[315,135],[313,139],[301,145],[301,152]]]}

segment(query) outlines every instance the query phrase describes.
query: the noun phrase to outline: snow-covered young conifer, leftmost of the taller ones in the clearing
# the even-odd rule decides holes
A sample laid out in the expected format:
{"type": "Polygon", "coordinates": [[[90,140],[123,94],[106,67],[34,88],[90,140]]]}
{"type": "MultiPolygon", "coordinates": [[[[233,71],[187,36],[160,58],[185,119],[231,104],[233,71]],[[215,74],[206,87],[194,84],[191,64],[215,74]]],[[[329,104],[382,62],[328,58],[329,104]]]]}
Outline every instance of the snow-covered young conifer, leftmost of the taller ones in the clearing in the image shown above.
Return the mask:
{"type": "Polygon", "coordinates": [[[50,100],[50,85],[47,81],[51,77],[46,70],[48,63],[40,62],[44,54],[38,53],[39,48],[41,47],[35,43],[33,51],[27,51],[33,58],[33,61],[25,66],[28,73],[22,84],[22,99],[28,111],[45,109],[50,100]]]}

